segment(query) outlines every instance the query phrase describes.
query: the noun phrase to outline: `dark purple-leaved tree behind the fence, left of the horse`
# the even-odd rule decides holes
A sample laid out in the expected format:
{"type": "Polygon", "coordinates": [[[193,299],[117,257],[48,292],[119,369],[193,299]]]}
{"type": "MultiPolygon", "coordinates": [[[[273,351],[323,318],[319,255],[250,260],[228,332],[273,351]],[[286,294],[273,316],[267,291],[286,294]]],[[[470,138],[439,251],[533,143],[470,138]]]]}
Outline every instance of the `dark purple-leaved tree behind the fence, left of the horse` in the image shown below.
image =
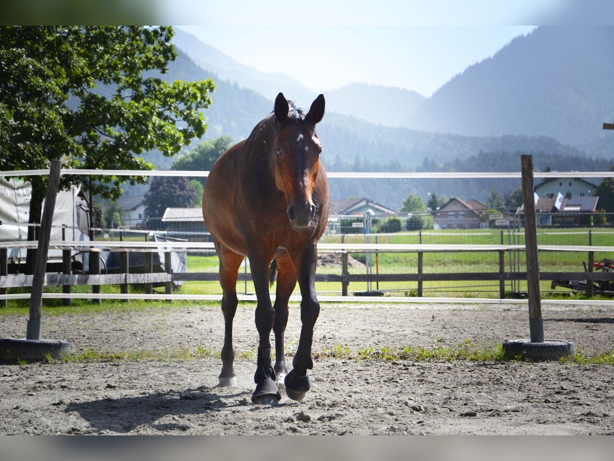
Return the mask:
{"type": "Polygon", "coordinates": [[[192,207],[196,191],[185,176],[154,176],[143,197],[145,216],[161,218],[169,207],[192,207]]]}

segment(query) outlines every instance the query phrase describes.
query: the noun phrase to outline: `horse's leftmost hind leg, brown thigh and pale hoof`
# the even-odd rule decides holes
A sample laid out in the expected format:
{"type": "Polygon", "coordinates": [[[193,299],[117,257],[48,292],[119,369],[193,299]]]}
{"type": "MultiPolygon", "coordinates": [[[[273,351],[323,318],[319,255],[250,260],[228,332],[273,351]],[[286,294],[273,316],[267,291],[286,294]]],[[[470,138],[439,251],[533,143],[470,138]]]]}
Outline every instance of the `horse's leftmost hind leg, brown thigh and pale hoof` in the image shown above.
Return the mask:
{"type": "Polygon", "coordinates": [[[223,251],[216,244],[217,254],[220,258],[220,285],[222,286],[222,313],[224,316],[224,344],[222,347],[222,372],[219,376],[219,385],[222,387],[236,387],[236,374],[234,369],[235,350],[232,345],[233,320],[236,307],[239,304],[236,296],[236,279],[243,262],[243,256],[223,251]]]}

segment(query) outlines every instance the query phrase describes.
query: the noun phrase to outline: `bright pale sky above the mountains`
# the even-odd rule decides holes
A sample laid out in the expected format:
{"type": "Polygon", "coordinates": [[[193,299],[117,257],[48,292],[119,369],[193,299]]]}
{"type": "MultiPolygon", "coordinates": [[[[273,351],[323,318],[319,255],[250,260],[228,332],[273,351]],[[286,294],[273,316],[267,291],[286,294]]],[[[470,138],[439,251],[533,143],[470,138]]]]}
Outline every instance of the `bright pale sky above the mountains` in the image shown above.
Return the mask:
{"type": "Polygon", "coordinates": [[[240,63],[287,74],[316,93],[363,82],[429,97],[567,3],[182,0],[177,7],[163,0],[161,17],[240,63]]]}

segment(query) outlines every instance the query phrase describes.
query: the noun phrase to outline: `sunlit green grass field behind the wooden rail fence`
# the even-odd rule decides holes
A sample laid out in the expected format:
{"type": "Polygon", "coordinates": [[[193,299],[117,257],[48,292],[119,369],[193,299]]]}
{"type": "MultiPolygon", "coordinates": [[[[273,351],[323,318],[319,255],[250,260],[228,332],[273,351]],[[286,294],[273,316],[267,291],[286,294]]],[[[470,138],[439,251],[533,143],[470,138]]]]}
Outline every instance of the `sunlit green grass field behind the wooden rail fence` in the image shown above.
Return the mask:
{"type": "MultiPolygon", "coordinates": [[[[565,245],[577,246],[588,245],[589,229],[545,229],[537,231],[538,244],[540,245],[565,245]]],[[[375,243],[376,234],[371,235],[370,241],[375,243]]],[[[144,237],[143,237],[144,238],[144,237]]],[[[428,230],[422,232],[403,232],[392,235],[377,235],[379,243],[410,243],[418,244],[422,238],[424,244],[445,245],[498,245],[500,243],[515,243],[524,245],[524,234],[508,234],[499,230],[476,229],[476,230],[428,230]]],[[[139,238],[138,240],[141,240],[139,238]]],[[[341,235],[325,235],[323,243],[341,243],[341,235]]],[[[344,237],[345,243],[366,243],[365,235],[354,234],[344,237]]],[[[592,243],[596,246],[614,246],[614,230],[597,228],[592,231],[592,243]]],[[[370,258],[371,274],[417,274],[417,253],[352,253],[350,256],[362,264],[350,266],[350,274],[367,274],[365,263],[370,258]]],[[[497,251],[445,251],[423,254],[423,272],[435,273],[473,273],[473,272],[499,272],[499,254],[497,251]]],[[[595,261],[604,258],[614,259],[614,254],[595,253],[595,261]]],[[[539,254],[540,271],[542,272],[583,272],[583,262],[588,261],[586,251],[542,251],[539,254]]],[[[188,272],[216,273],[218,270],[217,256],[189,255],[187,258],[188,272]]],[[[524,272],[526,260],[524,251],[505,253],[505,272],[524,272]]],[[[249,262],[244,262],[241,272],[249,273],[249,262]]],[[[317,269],[318,274],[341,275],[341,265],[323,266],[317,269]]],[[[550,280],[542,280],[541,288],[543,296],[569,297],[571,291],[566,288],[557,288],[552,291],[550,280]]],[[[134,288],[133,288],[134,289],[134,288]]],[[[394,296],[416,296],[418,282],[352,282],[349,284],[349,292],[357,293],[367,290],[383,291],[394,296]]],[[[61,291],[61,287],[47,287],[47,291],[61,291]]],[[[75,292],[87,293],[91,288],[73,287],[75,292]]],[[[138,288],[136,288],[138,290],[138,288]]],[[[275,288],[271,289],[274,292],[275,288]]],[[[324,294],[341,294],[340,282],[317,282],[316,290],[324,294]]],[[[119,286],[103,286],[103,293],[119,293],[119,286]]],[[[505,291],[526,292],[526,281],[506,282],[505,291]]],[[[9,291],[9,293],[15,291],[9,291]]],[[[221,294],[218,282],[185,282],[177,293],[182,294],[221,294]]],[[[239,294],[253,294],[255,292],[252,282],[237,282],[239,294]]],[[[295,294],[298,294],[298,286],[295,294]]],[[[424,282],[423,296],[440,297],[499,297],[499,282],[497,280],[483,281],[448,281],[448,282],[424,282]]],[[[75,300],[76,302],[77,300],[75,300]]],[[[12,301],[15,305],[27,305],[25,301],[12,301]]],[[[60,302],[61,304],[61,302],[60,302]]]]}

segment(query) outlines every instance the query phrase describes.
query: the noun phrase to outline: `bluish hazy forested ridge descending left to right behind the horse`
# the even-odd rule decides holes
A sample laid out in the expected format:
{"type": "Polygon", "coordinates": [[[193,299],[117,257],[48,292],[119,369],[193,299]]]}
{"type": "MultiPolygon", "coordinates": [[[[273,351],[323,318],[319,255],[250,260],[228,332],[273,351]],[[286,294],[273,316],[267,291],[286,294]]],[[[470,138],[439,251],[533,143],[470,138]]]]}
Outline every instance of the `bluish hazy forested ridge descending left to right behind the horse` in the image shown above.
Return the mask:
{"type": "MultiPolygon", "coordinates": [[[[211,77],[216,83],[216,92],[212,93],[213,103],[211,108],[205,111],[209,126],[206,138],[227,134],[236,138],[237,141],[241,140],[249,135],[259,120],[273,110],[272,99],[265,98],[254,90],[243,88],[210,70],[203,69],[187,53],[181,49],[177,51],[179,57],[169,65],[169,72],[163,76],[165,79],[169,81],[174,79],[198,80],[211,77]]],[[[476,66],[478,65],[474,67],[476,66]]],[[[376,85],[371,85],[373,86],[376,85]]],[[[360,88],[360,85],[356,85],[356,88],[360,88]]],[[[366,90],[369,89],[367,85],[366,90]]],[[[489,168],[488,162],[484,160],[486,158],[492,160],[491,164],[494,163],[501,168],[508,165],[510,170],[518,171],[521,152],[533,153],[536,156],[538,154],[549,156],[550,164],[547,166],[553,170],[564,169],[556,164],[556,158],[573,157],[590,160],[584,151],[561,144],[548,136],[465,136],[376,125],[357,117],[334,112],[328,104],[331,98],[328,92],[325,93],[325,97],[327,97],[327,112],[324,120],[318,125],[318,130],[324,144],[322,162],[328,171],[446,171],[450,169],[461,171],[458,168],[465,161],[469,162],[463,164],[465,168],[467,165],[472,165],[472,170],[489,171],[485,169],[489,168]],[[515,154],[506,154],[505,158],[511,159],[509,160],[511,163],[503,165],[499,161],[501,157],[497,152],[515,152],[515,154]],[[473,161],[472,157],[475,157],[476,160],[473,161]],[[514,159],[518,160],[518,165],[514,164],[514,159]]],[[[359,97],[362,97],[363,101],[369,100],[368,92],[359,93],[359,97]]],[[[311,100],[311,97],[301,98],[299,106],[308,109],[311,100]]],[[[424,100],[423,104],[427,101],[424,100]]],[[[409,112],[408,109],[405,111],[409,112]]],[[[161,154],[158,154],[158,157],[159,159],[153,157],[149,159],[158,168],[168,168],[172,163],[172,159],[161,157],[161,154]],[[166,162],[166,166],[159,163],[158,160],[166,162]]],[[[604,160],[604,162],[607,161],[604,160]]],[[[584,160],[574,160],[572,164],[578,165],[574,169],[596,167],[593,165],[594,162],[584,160]]],[[[537,162],[536,166],[538,166],[537,162]]],[[[463,179],[454,181],[335,179],[331,180],[331,187],[333,199],[345,199],[350,195],[365,195],[389,207],[400,208],[403,199],[410,192],[421,194],[423,197],[426,197],[427,192],[435,191],[437,194],[463,195],[465,198],[486,200],[492,187],[497,187],[500,193],[504,194],[508,189],[514,188],[515,184],[497,180],[480,182],[463,179]]]]}

